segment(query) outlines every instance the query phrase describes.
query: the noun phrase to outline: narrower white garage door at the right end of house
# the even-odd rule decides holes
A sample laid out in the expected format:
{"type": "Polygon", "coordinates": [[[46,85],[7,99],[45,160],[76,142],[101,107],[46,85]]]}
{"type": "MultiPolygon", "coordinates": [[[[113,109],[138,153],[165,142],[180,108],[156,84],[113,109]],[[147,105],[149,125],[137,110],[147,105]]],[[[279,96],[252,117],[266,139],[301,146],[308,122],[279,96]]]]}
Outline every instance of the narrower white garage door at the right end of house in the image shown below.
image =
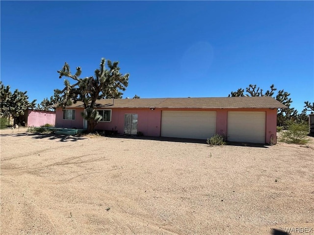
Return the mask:
{"type": "Polygon", "coordinates": [[[265,112],[228,112],[227,140],[265,143],[265,112]]]}

